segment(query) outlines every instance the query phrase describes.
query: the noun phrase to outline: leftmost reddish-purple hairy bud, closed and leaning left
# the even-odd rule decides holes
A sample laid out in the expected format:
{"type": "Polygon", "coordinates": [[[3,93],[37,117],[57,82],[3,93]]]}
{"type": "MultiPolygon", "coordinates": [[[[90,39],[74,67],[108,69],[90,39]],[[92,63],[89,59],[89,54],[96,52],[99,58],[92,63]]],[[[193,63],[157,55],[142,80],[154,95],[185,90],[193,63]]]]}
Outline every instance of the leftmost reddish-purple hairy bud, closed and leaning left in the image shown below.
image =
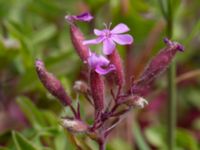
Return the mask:
{"type": "Polygon", "coordinates": [[[56,98],[58,98],[61,103],[65,106],[71,104],[71,99],[65,92],[65,89],[61,85],[60,81],[53,76],[53,74],[49,73],[44,63],[41,60],[36,60],[35,62],[36,71],[40,81],[43,86],[56,98]]]}

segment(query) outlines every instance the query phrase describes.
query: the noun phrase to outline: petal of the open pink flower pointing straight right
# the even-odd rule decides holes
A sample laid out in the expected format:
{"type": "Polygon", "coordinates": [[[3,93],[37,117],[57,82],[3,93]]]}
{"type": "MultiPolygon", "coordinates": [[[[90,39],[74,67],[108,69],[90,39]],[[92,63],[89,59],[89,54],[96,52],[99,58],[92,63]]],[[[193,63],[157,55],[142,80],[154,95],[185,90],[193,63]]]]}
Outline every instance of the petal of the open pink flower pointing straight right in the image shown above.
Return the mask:
{"type": "Polygon", "coordinates": [[[130,34],[118,34],[111,37],[116,43],[120,45],[127,45],[133,43],[133,37],[130,34]]]}

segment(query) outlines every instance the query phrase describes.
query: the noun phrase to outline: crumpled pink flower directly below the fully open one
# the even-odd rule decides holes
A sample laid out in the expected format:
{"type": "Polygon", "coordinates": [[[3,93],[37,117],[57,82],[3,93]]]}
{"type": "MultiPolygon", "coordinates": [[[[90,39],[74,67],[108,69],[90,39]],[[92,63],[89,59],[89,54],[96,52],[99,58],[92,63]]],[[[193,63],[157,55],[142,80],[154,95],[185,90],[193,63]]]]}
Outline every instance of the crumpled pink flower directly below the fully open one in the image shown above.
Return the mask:
{"type": "Polygon", "coordinates": [[[87,59],[87,63],[92,70],[95,70],[95,72],[100,75],[105,75],[115,70],[115,66],[110,64],[108,59],[95,53],[90,54],[87,59]]]}

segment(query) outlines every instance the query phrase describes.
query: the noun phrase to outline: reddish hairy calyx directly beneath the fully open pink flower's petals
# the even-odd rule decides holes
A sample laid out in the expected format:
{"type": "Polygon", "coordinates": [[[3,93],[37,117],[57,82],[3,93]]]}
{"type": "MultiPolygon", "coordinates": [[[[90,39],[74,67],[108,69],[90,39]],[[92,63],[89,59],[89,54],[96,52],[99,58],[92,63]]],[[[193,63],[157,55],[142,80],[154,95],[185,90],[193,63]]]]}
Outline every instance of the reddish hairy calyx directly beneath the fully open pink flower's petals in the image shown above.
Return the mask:
{"type": "Polygon", "coordinates": [[[115,76],[116,84],[119,86],[123,86],[124,70],[123,70],[123,66],[122,66],[122,60],[121,60],[117,50],[114,50],[112,54],[108,55],[108,59],[110,60],[110,63],[115,66],[114,76],[115,76]]]}

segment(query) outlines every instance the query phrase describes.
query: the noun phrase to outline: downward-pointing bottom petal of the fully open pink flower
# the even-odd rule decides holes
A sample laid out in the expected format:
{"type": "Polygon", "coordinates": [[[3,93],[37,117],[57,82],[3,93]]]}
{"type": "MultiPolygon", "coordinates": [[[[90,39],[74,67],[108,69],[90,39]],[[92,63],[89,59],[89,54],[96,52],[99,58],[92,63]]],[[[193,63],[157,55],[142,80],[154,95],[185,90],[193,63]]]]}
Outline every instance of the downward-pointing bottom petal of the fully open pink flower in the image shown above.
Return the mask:
{"type": "Polygon", "coordinates": [[[103,53],[105,55],[110,55],[115,49],[115,43],[112,39],[105,39],[103,41],[103,53]]]}

